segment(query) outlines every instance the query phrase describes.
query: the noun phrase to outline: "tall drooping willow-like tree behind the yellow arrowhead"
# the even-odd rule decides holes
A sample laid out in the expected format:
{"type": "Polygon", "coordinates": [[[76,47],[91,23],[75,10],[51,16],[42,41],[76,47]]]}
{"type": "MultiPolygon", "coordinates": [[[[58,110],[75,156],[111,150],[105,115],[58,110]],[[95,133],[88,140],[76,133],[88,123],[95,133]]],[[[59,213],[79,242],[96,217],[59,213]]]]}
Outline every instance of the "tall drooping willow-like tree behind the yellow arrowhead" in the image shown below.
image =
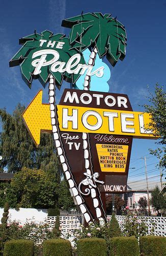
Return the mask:
{"type": "Polygon", "coordinates": [[[22,121],[25,107],[16,106],[13,114],[0,109],[3,132],[0,152],[2,152],[2,167],[8,172],[16,173],[22,169],[37,168],[52,172],[56,175],[61,172],[57,155],[54,154],[53,140],[50,134],[41,135],[41,143],[37,148],[31,139],[22,121]]]}

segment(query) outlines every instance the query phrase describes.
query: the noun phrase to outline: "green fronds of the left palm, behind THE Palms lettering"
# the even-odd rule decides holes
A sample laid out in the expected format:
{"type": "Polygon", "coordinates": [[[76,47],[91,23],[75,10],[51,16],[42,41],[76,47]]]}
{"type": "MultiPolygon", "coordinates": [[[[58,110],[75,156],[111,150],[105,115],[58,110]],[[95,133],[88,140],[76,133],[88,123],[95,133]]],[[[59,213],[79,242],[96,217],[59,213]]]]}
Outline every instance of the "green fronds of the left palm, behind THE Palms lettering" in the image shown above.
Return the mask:
{"type": "MultiPolygon", "coordinates": [[[[25,36],[19,39],[19,44],[23,45],[22,48],[14,55],[14,57],[10,60],[9,65],[10,67],[20,65],[21,68],[21,75],[23,80],[27,83],[29,87],[31,87],[33,79],[39,79],[43,87],[45,87],[48,77],[50,74],[56,79],[57,86],[61,86],[63,79],[72,82],[73,84],[79,78],[79,75],[76,74],[68,74],[67,72],[60,73],[60,72],[51,72],[49,66],[45,66],[41,68],[41,73],[39,75],[34,75],[33,72],[35,67],[32,66],[32,56],[35,52],[40,50],[48,50],[53,49],[56,50],[60,54],[60,58],[58,61],[67,61],[70,59],[71,56],[78,53],[77,48],[80,47],[79,42],[75,44],[75,48],[72,48],[69,44],[69,38],[65,37],[64,34],[55,34],[53,35],[52,32],[45,30],[41,34],[34,33],[29,36],[25,36]],[[51,41],[60,41],[64,42],[63,49],[58,48],[47,48],[47,44],[43,44],[40,47],[40,39],[49,40],[51,41]]],[[[47,61],[50,60],[52,56],[47,56],[47,61]]],[[[35,59],[35,58],[34,58],[35,59]]],[[[33,60],[34,60],[33,59],[33,60]]],[[[85,64],[84,57],[81,55],[80,63],[85,64]]]]}

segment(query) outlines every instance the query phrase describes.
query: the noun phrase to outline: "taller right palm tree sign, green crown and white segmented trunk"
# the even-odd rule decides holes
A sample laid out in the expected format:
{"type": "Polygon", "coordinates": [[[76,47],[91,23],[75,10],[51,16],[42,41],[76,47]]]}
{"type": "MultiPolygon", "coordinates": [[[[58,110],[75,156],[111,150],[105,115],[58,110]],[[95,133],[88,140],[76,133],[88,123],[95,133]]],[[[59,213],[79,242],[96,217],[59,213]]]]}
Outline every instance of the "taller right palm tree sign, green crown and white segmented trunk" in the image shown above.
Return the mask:
{"type": "MultiPolygon", "coordinates": [[[[124,26],[110,14],[103,15],[99,12],[81,14],[64,19],[62,26],[71,28],[69,39],[72,47],[80,42],[81,45],[75,46],[80,52],[84,51],[86,48],[92,49],[90,59],[88,61],[89,66],[94,66],[97,53],[100,58],[106,55],[106,58],[113,67],[119,59],[124,59],[126,54],[126,31],[124,26]]],[[[91,76],[86,75],[84,90],[90,90],[90,81],[91,76]]],[[[94,174],[91,162],[89,135],[82,133],[82,139],[85,145],[89,145],[89,158],[85,159],[85,176],[92,176],[94,174]],[[87,160],[89,161],[88,167],[87,160]]],[[[87,146],[85,148],[85,155],[86,152],[87,146]]],[[[94,193],[92,194],[92,189],[94,190],[94,188],[91,188],[91,197],[93,198],[94,207],[96,207],[96,216],[101,220],[101,216],[105,213],[103,209],[99,209],[95,206],[97,199],[96,196],[94,196],[94,193]],[[101,210],[103,212],[101,212],[101,210]]]]}

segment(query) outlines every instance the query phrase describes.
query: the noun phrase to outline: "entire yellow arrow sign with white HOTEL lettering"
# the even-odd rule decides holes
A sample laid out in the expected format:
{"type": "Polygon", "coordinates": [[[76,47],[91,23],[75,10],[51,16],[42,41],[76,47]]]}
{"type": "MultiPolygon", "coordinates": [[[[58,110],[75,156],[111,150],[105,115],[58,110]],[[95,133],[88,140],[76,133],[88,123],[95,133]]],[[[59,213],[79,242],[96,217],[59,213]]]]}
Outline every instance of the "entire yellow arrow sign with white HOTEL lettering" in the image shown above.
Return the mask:
{"type": "MultiPolygon", "coordinates": [[[[52,131],[49,104],[42,103],[42,93],[40,90],[23,113],[23,120],[36,146],[40,144],[40,133],[52,131]]],[[[143,128],[151,121],[148,113],[108,111],[71,105],[57,105],[57,108],[60,131],[157,139],[143,128]]]]}

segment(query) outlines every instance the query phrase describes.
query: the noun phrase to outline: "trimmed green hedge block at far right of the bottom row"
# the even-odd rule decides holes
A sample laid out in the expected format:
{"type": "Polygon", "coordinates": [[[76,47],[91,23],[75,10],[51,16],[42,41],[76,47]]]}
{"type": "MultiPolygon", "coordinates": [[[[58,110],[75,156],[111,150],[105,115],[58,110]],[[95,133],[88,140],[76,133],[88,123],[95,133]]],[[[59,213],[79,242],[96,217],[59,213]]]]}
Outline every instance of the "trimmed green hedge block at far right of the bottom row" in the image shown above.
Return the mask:
{"type": "Polygon", "coordinates": [[[142,255],[166,255],[166,238],[157,236],[141,237],[140,250],[142,255]]]}

